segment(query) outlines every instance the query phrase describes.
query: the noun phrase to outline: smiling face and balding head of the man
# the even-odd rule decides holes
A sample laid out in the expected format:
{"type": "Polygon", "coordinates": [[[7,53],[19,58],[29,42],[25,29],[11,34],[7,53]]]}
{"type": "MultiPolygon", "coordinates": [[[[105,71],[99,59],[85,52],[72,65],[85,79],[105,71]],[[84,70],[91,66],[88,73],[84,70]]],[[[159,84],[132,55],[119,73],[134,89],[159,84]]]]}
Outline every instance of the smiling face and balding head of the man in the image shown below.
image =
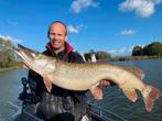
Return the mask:
{"type": "Polygon", "coordinates": [[[55,51],[63,51],[67,38],[65,26],[61,23],[53,23],[50,26],[48,38],[55,51]]]}

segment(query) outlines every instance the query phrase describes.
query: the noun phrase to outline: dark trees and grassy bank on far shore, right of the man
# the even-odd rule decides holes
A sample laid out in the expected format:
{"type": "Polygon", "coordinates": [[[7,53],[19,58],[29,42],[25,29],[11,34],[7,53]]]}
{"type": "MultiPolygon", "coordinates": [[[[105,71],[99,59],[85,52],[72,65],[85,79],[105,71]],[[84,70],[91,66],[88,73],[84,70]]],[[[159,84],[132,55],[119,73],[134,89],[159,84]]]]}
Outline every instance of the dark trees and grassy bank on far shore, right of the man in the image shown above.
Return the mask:
{"type": "Polygon", "coordinates": [[[111,54],[108,52],[90,50],[88,53],[84,54],[86,61],[90,61],[93,54],[95,54],[96,59],[99,61],[127,61],[127,59],[149,58],[155,56],[162,57],[162,43],[152,42],[151,44],[148,44],[145,46],[136,45],[131,52],[131,56],[123,56],[123,57],[111,57],[111,54]]]}

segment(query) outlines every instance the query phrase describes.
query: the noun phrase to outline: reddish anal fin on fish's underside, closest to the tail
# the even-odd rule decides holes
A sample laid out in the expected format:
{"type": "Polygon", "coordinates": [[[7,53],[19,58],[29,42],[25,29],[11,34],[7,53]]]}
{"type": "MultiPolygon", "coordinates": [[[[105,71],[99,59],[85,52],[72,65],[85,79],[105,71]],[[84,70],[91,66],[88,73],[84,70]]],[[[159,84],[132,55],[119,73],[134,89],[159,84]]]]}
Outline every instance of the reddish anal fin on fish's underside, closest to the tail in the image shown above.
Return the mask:
{"type": "Polygon", "coordinates": [[[136,102],[138,99],[138,95],[134,89],[122,89],[122,91],[130,101],[136,102]]]}

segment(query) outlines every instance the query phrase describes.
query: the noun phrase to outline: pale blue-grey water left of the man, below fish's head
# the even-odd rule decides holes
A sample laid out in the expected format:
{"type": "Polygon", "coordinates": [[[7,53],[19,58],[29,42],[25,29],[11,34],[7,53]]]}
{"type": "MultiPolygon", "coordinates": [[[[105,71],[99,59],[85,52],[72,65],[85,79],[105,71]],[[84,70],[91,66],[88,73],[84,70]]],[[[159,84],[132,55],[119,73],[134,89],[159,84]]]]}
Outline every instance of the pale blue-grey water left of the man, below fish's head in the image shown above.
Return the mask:
{"type": "Polygon", "coordinates": [[[26,77],[24,70],[11,70],[0,73],[0,121],[10,113],[9,102],[17,102],[22,91],[21,77],[26,77]]]}

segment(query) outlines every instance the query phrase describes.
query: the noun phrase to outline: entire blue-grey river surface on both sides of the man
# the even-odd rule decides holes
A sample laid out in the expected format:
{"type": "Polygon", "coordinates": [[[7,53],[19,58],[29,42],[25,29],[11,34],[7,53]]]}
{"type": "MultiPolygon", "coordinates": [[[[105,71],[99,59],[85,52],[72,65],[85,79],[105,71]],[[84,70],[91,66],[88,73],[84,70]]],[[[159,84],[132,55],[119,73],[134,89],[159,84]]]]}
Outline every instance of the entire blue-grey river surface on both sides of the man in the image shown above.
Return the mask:
{"type": "MultiPolygon", "coordinates": [[[[144,82],[162,90],[162,58],[147,61],[114,62],[108,64],[130,65],[140,67],[145,73],[144,82]]],[[[20,103],[18,96],[22,91],[21,78],[26,77],[25,70],[0,73],[0,121],[10,113],[9,102],[20,103]]],[[[162,121],[162,97],[155,101],[151,112],[145,112],[141,94],[137,102],[130,102],[116,86],[104,89],[104,100],[96,105],[111,110],[128,121],[162,121]]]]}

